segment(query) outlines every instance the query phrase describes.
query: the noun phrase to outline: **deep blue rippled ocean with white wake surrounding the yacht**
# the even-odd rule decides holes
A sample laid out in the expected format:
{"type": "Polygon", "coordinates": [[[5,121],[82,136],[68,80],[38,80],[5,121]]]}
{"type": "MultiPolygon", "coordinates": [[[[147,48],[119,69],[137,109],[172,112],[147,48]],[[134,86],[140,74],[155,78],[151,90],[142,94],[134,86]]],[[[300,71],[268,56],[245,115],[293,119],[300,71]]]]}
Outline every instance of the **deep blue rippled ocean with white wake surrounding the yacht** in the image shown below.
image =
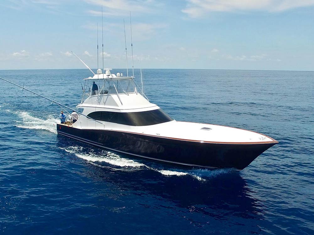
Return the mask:
{"type": "MultiPolygon", "coordinates": [[[[72,107],[88,76],[0,70],[72,107]]],[[[57,135],[58,106],[0,81],[1,234],[314,234],[314,72],[143,76],[150,102],[172,118],[253,130],[279,144],[240,172],[134,159],[57,135]]]]}

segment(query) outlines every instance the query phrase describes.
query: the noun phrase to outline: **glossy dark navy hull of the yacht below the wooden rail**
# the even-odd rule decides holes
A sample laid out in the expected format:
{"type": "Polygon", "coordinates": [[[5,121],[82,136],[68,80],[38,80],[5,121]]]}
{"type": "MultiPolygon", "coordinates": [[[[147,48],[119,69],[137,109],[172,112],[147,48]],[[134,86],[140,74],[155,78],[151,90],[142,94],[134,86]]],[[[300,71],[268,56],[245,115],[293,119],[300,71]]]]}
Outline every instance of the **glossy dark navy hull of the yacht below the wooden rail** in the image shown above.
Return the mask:
{"type": "Polygon", "coordinates": [[[113,130],[86,130],[57,124],[58,134],[100,148],[171,164],[244,169],[276,143],[216,144],[113,130]]]}

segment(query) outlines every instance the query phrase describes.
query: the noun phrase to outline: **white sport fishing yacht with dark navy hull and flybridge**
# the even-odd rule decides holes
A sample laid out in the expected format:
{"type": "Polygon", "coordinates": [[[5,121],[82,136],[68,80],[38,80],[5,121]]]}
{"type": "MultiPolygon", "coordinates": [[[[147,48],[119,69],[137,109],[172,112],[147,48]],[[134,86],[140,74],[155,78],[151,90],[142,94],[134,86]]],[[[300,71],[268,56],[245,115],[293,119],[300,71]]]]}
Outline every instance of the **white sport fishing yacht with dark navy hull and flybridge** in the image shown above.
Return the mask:
{"type": "Polygon", "coordinates": [[[149,102],[133,76],[104,70],[84,79],[78,121],[57,124],[58,134],[144,159],[237,170],[278,143],[253,131],[176,121],[149,102]],[[98,90],[88,89],[93,81],[98,90]]]}

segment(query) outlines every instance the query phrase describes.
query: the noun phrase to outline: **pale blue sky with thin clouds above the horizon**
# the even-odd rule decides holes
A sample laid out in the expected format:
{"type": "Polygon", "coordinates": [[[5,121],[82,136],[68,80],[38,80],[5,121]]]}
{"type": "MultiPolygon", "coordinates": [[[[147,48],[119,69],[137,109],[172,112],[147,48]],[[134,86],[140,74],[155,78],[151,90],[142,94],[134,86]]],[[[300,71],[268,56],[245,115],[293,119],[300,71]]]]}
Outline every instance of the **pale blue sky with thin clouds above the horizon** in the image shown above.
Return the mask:
{"type": "Polygon", "coordinates": [[[314,0],[2,0],[0,69],[314,70],[314,0]]]}

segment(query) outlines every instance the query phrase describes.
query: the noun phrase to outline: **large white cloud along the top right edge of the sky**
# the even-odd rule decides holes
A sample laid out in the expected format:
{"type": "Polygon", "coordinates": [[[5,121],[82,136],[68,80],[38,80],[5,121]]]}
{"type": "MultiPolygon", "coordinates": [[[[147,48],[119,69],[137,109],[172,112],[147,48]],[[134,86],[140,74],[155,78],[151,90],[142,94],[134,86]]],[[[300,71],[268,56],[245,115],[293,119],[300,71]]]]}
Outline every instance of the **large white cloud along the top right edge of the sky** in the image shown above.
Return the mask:
{"type": "Polygon", "coordinates": [[[191,18],[204,16],[209,12],[267,11],[280,12],[292,8],[314,6],[314,0],[186,0],[181,10],[191,18]]]}

